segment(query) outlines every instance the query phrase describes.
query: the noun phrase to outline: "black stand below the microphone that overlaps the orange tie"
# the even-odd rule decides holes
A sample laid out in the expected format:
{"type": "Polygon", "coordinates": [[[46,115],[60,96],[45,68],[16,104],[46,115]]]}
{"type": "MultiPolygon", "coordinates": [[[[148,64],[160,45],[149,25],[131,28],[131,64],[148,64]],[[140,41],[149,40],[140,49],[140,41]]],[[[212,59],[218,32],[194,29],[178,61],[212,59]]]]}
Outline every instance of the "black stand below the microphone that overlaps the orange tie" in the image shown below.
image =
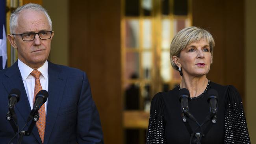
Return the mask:
{"type": "MultiPolygon", "coordinates": [[[[19,133],[20,137],[19,137],[19,140],[18,140],[17,144],[21,144],[24,136],[29,136],[31,134],[32,129],[35,126],[35,123],[37,122],[37,120],[39,120],[39,113],[38,113],[38,111],[37,111],[37,113],[35,113],[35,115],[31,119],[32,119],[32,122],[31,122],[30,126],[28,127],[28,130],[27,131],[20,131],[20,133],[19,133]]],[[[28,119],[28,122],[31,119],[28,119]]]]}

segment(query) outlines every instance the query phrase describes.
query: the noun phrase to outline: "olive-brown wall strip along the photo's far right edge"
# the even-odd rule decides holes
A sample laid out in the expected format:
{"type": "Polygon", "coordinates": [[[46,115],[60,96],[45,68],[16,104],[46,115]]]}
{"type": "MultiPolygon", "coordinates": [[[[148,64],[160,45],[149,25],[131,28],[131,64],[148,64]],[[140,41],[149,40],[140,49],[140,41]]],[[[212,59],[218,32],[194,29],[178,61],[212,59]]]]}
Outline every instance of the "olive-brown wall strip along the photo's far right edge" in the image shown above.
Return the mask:
{"type": "Polygon", "coordinates": [[[245,94],[246,118],[252,144],[256,143],[256,1],[245,0],[245,94]]]}

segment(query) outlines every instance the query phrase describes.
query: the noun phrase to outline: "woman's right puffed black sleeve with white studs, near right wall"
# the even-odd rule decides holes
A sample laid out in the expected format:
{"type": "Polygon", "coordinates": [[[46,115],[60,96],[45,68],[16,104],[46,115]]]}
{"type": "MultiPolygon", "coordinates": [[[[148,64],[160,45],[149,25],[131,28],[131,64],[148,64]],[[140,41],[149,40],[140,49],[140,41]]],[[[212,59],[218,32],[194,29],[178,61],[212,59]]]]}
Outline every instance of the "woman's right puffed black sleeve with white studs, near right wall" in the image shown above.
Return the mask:
{"type": "Polygon", "coordinates": [[[242,100],[237,89],[230,85],[226,91],[225,144],[250,144],[242,100]]]}

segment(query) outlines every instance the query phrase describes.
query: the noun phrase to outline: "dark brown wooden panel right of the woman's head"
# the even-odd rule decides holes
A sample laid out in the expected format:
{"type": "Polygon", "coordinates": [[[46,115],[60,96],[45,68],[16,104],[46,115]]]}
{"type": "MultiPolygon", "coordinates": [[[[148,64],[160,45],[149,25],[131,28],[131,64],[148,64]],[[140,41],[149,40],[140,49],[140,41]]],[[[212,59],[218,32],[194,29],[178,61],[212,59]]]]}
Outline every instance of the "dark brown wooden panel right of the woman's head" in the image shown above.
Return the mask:
{"type": "Polygon", "coordinates": [[[244,1],[193,0],[193,26],[209,30],[215,39],[208,78],[234,85],[244,96],[244,1]]]}

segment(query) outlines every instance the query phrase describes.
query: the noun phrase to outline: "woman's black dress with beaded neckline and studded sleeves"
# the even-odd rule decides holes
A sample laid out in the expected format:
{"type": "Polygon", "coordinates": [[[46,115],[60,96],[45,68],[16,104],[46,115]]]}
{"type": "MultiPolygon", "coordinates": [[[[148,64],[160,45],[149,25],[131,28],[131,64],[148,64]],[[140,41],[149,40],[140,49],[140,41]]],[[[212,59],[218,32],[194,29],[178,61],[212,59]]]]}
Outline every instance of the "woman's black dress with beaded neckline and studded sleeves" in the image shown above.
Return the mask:
{"type": "MultiPolygon", "coordinates": [[[[209,81],[200,96],[190,98],[189,112],[199,124],[204,122],[210,113],[207,102],[209,89],[217,90],[219,95],[217,122],[211,126],[205,137],[202,137],[201,144],[250,144],[243,105],[234,86],[222,86],[209,81]]],[[[169,92],[159,92],[152,99],[147,144],[189,144],[191,137],[182,122],[179,90],[180,87],[177,86],[169,92]]],[[[198,127],[190,119],[187,122],[193,131],[198,127]]],[[[204,131],[208,123],[199,130],[204,131]]]]}

